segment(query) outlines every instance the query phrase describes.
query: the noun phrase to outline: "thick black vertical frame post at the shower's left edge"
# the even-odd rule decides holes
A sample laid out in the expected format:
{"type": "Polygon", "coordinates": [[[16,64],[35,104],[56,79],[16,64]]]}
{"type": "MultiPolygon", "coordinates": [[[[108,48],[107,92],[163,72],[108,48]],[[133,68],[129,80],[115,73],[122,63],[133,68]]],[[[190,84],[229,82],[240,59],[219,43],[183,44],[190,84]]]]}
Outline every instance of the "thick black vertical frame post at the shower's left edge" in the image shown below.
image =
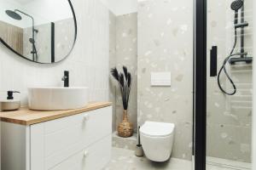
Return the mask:
{"type": "Polygon", "coordinates": [[[195,0],[194,53],[195,170],[207,166],[207,0],[195,0]]]}

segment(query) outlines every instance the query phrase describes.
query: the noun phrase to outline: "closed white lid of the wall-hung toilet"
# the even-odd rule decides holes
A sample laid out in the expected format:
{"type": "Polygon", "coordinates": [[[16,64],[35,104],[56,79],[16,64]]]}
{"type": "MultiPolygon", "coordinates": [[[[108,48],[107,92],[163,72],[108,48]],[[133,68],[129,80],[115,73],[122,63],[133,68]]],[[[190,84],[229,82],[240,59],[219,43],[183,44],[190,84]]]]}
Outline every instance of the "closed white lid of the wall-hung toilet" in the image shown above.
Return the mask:
{"type": "Polygon", "coordinates": [[[165,137],[172,134],[175,125],[166,122],[145,122],[140,128],[140,133],[152,137],[165,137]]]}

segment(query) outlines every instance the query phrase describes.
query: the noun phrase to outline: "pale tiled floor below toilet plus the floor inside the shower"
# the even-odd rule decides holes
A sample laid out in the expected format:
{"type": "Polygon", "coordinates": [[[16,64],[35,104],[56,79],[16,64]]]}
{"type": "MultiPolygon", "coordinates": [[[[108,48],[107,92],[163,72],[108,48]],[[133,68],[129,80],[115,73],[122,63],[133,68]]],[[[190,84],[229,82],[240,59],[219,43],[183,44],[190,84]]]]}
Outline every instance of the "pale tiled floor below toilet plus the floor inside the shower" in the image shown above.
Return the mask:
{"type": "MultiPolygon", "coordinates": [[[[103,170],[192,170],[192,161],[172,158],[164,163],[137,157],[133,150],[113,147],[112,159],[103,170]]],[[[251,164],[207,157],[207,170],[250,170],[251,164]]]]}

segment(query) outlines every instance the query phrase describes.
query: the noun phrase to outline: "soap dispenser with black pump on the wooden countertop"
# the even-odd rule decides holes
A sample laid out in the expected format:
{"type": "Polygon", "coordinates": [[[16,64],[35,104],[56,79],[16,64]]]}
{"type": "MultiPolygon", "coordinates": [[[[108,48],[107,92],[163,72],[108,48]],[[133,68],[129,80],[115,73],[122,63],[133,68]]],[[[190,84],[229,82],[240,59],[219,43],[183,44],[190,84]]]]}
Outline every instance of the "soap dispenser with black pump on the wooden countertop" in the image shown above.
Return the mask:
{"type": "Polygon", "coordinates": [[[0,101],[1,111],[16,111],[20,109],[20,100],[14,98],[14,93],[19,93],[18,91],[8,91],[7,100],[0,101]]]}

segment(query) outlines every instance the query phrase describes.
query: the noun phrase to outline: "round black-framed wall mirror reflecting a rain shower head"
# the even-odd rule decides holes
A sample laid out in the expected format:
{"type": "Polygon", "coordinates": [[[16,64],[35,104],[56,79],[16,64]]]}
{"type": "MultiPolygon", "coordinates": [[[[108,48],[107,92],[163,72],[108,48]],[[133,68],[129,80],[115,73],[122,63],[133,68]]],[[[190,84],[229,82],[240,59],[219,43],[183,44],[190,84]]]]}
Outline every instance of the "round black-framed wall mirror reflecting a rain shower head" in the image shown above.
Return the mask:
{"type": "Polygon", "coordinates": [[[48,64],[71,53],[77,22],[70,0],[0,0],[0,41],[24,59],[48,64]]]}

